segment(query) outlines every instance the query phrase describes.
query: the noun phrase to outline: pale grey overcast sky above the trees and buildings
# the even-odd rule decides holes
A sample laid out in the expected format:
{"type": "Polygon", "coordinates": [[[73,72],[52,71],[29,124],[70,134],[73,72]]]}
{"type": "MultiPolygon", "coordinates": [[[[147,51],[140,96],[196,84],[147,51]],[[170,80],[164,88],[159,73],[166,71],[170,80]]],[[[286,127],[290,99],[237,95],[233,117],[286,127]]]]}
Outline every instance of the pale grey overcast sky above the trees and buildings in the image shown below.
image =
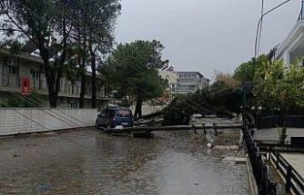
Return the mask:
{"type": "MultiPolygon", "coordinates": [[[[269,10],[284,0],[266,0],[269,10]]],[[[254,54],[261,0],[122,0],[118,43],[160,41],[176,71],[233,73],[254,54]]],[[[301,0],[291,0],[265,17],[260,52],[282,42],[296,23],[301,0]]]]}

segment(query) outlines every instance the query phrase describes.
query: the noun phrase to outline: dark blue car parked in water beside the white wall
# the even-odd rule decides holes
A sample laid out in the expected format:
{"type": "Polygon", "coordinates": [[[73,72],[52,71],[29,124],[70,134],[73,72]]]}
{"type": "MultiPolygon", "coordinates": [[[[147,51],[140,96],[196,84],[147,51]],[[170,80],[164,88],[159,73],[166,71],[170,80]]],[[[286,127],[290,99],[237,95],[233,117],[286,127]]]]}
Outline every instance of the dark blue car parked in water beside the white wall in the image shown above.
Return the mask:
{"type": "Polygon", "coordinates": [[[104,127],[106,129],[116,128],[117,126],[133,127],[134,119],[130,109],[121,107],[109,107],[98,114],[96,119],[96,128],[104,127]]]}

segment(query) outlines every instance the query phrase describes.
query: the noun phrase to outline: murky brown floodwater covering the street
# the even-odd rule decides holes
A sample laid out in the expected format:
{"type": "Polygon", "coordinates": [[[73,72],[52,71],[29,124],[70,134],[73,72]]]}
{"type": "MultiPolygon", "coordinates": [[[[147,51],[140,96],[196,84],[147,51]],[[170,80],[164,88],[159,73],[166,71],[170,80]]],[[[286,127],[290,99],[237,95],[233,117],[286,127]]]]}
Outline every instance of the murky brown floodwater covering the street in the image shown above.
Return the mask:
{"type": "Polygon", "coordinates": [[[191,132],[93,130],[0,139],[0,194],[248,194],[246,164],[191,132]]]}

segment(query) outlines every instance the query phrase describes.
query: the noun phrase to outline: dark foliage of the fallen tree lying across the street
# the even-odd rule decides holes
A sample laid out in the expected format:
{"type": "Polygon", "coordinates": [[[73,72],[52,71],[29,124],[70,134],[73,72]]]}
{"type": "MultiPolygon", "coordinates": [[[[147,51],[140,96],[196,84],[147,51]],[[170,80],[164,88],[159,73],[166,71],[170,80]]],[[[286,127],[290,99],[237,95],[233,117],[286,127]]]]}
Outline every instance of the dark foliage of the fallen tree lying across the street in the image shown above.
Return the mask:
{"type": "Polygon", "coordinates": [[[218,81],[197,93],[177,96],[165,109],[163,125],[186,125],[195,113],[232,118],[240,106],[241,89],[218,81]]]}

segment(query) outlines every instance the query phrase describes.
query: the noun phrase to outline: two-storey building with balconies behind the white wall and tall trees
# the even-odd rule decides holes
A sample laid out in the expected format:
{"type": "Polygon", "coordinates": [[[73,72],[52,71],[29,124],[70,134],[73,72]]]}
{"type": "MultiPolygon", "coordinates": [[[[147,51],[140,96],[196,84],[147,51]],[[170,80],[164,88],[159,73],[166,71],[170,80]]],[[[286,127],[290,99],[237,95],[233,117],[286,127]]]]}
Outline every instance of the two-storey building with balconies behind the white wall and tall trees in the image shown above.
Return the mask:
{"type": "MultiPolygon", "coordinates": [[[[0,49],[0,101],[20,96],[21,81],[28,79],[31,92],[43,100],[49,107],[46,77],[41,58],[31,54],[10,54],[7,49],[0,49]]],[[[60,108],[78,108],[80,96],[80,79],[71,82],[66,76],[60,81],[57,105],[60,108]]],[[[97,75],[97,106],[103,108],[106,103],[105,80],[97,75]]],[[[86,73],[85,107],[91,107],[91,73],[86,73]]]]}

